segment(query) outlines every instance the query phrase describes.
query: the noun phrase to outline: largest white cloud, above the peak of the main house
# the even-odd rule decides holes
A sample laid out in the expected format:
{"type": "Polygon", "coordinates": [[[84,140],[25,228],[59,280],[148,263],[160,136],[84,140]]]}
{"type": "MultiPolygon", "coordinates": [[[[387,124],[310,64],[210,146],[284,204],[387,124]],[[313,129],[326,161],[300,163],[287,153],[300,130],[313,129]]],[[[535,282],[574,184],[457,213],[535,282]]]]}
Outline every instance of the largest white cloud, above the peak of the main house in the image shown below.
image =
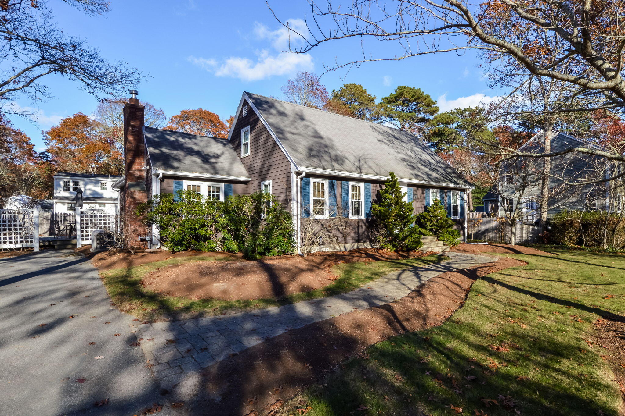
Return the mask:
{"type": "MultiPolygon", "coordinates": [[[[308,34],[306,22],[302,19],[289,19],[289,27],[302,36],[308,34]]],[[[301,37],[281,26],[272,31],[264,24],[254,22],[254,39],[269,41],[272,49],[261,49],[256,52],[255,58],[231,56],[224,59],[203,58],[189,56],[187,60],[204,70],[212,72],[217,77],[233,77],[244,81],[257,81],[274,75],[290,75],[301,70],[312,70],[312,56],[309,54],[295,54],[282,52],[297,49],[302,45],[301,37]],[[290,37],[290,38],[289,38],[290,37]]]]}

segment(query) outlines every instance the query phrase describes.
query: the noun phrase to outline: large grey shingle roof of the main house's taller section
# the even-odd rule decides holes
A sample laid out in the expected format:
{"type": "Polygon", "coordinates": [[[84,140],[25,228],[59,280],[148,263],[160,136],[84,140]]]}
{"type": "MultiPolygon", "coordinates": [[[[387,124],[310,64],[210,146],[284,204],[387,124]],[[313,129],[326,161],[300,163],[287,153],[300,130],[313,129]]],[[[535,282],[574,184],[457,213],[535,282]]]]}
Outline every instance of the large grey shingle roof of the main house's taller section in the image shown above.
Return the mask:
{"type": "Polygon", "coordinates": [[[471,186],[412,133],[249,92],[244,96],[299,170],[379,177],[394,172],[417,182],[471,186]]]}

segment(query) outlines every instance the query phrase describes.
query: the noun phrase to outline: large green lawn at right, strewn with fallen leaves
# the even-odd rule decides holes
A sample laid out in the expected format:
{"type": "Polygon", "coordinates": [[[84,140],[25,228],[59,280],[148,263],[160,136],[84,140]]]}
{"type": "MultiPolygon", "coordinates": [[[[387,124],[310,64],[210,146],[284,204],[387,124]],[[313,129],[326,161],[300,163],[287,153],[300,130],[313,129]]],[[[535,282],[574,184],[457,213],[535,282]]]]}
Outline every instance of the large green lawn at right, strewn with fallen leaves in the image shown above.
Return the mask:
{"type": "Polygon", "coordinates": [[[616,415],[592,322],[625,311],[625,256],[550,250],[489,274],[439,327],[380,342],[282,414],[616,415]]]}

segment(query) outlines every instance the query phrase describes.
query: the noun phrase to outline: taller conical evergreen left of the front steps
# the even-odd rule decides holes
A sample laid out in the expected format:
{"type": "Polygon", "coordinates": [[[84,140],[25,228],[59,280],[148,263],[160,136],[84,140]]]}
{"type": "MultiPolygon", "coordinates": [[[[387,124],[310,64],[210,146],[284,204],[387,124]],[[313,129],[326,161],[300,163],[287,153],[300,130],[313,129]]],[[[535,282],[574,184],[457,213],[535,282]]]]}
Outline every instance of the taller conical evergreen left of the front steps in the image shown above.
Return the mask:
{"type": "Polygon", "coordinates": [[[371,216],[375,225],[382,230],[381,247],[402,250],[416,250],[422,246],[419,228],[414,226],[416,216],[412,215],[412,202],[404,202],[404,193],[393,172],[384,188],[377,191],[371,205],[371,216]]]}

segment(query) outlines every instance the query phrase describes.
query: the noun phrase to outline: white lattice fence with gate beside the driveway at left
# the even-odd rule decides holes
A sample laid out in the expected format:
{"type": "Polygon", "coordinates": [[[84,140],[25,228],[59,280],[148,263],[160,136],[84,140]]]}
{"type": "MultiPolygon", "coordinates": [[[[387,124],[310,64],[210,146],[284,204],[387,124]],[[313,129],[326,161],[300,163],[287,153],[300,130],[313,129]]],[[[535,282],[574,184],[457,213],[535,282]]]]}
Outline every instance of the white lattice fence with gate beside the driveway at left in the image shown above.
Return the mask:
{"type": "Polygon", "coordinates": [[[94,230],[112,230],[116,226],[116,215],[103,210],[76,208],[76,213],[61,215],[62,219],[59,213],[39,211],[38,208],[0,210],[0,249],[34,247],[35,251],[39,251],[40,235],[48,241],[76,239],[76,247],[81,247],[91,244],[94,230]],[[72,232],[68,233],[68,230],[72,232]]]}

